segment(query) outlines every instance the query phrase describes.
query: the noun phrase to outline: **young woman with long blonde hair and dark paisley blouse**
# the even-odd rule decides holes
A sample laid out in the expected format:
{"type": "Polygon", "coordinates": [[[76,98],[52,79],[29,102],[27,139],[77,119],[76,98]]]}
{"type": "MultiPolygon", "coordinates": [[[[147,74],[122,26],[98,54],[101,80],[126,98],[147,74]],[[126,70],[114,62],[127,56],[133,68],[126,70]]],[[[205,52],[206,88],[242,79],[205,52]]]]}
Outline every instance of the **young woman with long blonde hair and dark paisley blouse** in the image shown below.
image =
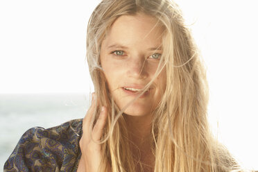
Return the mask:
{"type": "Polygon", "coordinates": [[[240,171],[209,132],[205,69],[175,3],[101,1],[87,62],[85,118],[28,130],[5,171],[240,171]]]}

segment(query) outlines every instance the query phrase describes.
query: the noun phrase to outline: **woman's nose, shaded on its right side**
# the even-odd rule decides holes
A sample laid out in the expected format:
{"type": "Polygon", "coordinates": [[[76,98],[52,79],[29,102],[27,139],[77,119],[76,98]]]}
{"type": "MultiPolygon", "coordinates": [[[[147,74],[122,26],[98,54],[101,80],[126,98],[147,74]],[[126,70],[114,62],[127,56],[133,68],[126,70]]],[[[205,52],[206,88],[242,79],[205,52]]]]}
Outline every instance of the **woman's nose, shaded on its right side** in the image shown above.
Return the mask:
{"type": "Polygon", "coordinates": [[[144,79],[148,76],[146,60],[142,57],[131,58],[128,62],[128,76],[135,79],[144,79]]]}

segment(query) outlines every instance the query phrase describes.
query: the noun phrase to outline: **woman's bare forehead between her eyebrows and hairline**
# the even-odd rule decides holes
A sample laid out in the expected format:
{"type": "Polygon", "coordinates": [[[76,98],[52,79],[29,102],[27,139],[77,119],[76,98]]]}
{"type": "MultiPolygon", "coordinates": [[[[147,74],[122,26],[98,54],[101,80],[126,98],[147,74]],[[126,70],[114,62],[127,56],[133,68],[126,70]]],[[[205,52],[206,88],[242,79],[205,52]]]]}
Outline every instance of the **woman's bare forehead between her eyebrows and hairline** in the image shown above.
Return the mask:
{"type": "Polygon", "coordinates": [[[149,15],[122,15],[112,24],[103,42],[107,45],[117,42],[126,46],[160,46],[162,26],[149,15]]]}

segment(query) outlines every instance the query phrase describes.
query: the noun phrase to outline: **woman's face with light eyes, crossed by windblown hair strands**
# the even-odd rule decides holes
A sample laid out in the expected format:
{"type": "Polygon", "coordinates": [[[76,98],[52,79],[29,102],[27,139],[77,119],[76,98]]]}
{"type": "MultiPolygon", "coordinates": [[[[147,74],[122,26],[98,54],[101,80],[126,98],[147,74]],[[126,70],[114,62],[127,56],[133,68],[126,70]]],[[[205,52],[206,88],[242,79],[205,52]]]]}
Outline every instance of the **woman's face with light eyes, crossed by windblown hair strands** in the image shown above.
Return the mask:
{"type": "MultiPolygon", "coordinates": [[[[161,54],[162,28],[157,25],[157,19],[143,14],[123,15],[112,24],[101,44],[101,66],[120,110],[154,78],[161,54]]],[[[164,71],[124,113],[150,114],[160,102],[162,89],[164,71]]]]}

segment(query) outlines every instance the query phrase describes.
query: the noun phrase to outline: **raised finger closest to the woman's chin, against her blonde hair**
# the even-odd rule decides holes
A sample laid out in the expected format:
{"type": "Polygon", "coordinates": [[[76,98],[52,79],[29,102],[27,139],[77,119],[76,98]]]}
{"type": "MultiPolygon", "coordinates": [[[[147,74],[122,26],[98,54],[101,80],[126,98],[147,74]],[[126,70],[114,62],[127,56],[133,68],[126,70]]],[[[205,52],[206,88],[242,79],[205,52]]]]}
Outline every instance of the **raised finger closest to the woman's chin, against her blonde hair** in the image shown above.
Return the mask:
{"type": "Polygon", "coordinates": [[[99,114],[98,120],[92,131],[92,137],[95,141],[99,141],[101,136],[103,135],[103,128],[105,127],[105,123],[107,121],[107,108],[101,107],[101,114],[99,114]]]}

